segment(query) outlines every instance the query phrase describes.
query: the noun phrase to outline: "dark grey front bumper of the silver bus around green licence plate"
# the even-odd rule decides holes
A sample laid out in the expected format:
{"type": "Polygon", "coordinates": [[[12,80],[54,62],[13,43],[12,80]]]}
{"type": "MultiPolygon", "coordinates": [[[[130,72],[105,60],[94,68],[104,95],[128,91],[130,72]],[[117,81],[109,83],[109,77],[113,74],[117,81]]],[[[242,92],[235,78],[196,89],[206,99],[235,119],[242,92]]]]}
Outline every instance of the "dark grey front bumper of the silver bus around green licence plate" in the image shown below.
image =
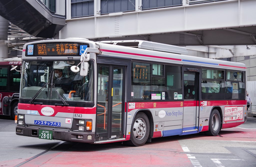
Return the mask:
{"type": "MultiPolygon", "coordinates": [[[[44,128],[41,128],[44,129],[44,128]]],[[[52,140],[94,143],[95,132],[51,130],[52,140]]],[[[39,138],[39,128],[16,126],[16,135],[39,138]]]]}

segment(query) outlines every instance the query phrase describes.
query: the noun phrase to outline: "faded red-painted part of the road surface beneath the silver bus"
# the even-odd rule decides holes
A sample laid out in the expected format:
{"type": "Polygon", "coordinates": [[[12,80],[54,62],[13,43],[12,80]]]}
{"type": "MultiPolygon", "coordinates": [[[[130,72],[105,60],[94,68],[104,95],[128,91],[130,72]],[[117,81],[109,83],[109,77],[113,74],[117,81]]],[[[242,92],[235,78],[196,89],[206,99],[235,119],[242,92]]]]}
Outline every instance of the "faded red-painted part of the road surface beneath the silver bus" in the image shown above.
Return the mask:
{"type": "MultiPolygon", "coordinates": [[[[223,141],[256,141],[256,129],[229,128],[220,131],[218,136],[202,134],[172,136],[152,139],[141,147],[130,147],[125,144],[85,144],[64,142],[58,147],[24,163],[24,159],[12,162],[0,160],[4,166],[184,166],[193,164],[184,153],[179,140],[223,140],[223,141]]],[[[32,157],[31,157],[32,158],[32,157]]],[[[27,160],[26,160],[27,161],[27,160]]],[[[0,165],[1,166],[1,165],[0,165]]]]}

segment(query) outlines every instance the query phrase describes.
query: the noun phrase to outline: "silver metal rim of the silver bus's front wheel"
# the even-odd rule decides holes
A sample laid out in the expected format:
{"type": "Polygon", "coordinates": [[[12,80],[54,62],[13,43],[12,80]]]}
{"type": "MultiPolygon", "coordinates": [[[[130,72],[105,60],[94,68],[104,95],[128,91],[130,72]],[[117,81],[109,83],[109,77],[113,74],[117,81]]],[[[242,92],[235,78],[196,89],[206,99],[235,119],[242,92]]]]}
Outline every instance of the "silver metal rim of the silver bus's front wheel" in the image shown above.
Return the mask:
{"type": "Polygon", "coordinates": [[[137,140],[141,140],[146,134],[146,123],[142,118],[138,118],[133,124],[133,135],[137,140]]]}

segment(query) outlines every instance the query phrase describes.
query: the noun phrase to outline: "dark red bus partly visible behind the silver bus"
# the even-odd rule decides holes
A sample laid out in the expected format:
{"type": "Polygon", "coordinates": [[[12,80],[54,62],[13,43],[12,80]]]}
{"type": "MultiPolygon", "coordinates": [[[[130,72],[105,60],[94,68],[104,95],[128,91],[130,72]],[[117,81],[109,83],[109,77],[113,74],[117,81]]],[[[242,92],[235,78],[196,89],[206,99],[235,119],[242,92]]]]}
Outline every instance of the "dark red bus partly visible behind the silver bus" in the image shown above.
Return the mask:
{"type": "Polygon", "coordinates": [[[5,59],[0,62],[0,115],[9,115],[12,118],[17,115],[19,88],[20,88],[20,65],[17,59],[5,59]],[[16,70],[10,71],[12,65],[17,65],[16,70]]]}

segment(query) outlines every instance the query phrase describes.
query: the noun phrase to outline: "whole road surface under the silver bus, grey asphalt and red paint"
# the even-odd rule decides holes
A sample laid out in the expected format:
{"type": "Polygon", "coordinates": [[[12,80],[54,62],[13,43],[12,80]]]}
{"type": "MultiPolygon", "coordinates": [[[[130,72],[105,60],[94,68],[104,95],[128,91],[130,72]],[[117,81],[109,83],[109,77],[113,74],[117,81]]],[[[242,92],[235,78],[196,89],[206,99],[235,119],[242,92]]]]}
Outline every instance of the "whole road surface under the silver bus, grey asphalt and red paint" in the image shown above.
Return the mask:
{"type": "Polygon", "coordinates": [[[141,147],[17,136],[14,121],[1,118],[0,166],[256,166],[256,118],[252,117],[218,136],[170,136],[141,147]]]}

